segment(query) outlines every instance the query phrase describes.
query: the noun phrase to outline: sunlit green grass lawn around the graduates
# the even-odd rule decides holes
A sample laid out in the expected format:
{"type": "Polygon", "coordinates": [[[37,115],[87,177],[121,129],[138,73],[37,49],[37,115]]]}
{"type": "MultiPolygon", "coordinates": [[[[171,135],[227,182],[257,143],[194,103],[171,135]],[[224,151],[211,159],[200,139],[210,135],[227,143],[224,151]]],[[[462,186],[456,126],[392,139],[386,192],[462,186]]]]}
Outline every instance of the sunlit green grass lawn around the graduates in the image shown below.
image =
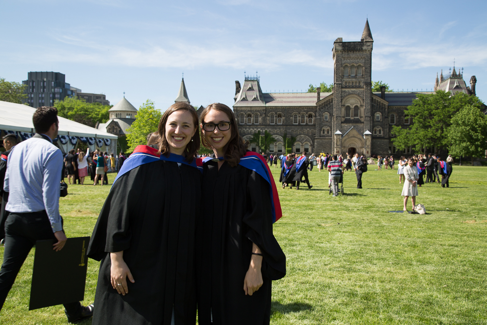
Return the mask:
{"type": "MultiPolygon", "coordinates": [[[[419,188],[426,215],[388,212],[402,210],[396,173],[369,166],[357,190],[355,174],[345,172],[338,197],[328,194],[328,172],[316,168],[311,191],[278,184],[283,217],[274,233],[287,275],[273,283],[271,324],[487,324],[487,168],[454,166],[449,189],[419,188]]],[[[109,190],[68,188],[60,199],[68,237],[91,235],[109,190]]],[[[34,250],[0,323],[66,324],[62,306],[28,311],[33,260],[34,250]]],[[[89,260],[85,305],[97,275],[89,260]]]]}

